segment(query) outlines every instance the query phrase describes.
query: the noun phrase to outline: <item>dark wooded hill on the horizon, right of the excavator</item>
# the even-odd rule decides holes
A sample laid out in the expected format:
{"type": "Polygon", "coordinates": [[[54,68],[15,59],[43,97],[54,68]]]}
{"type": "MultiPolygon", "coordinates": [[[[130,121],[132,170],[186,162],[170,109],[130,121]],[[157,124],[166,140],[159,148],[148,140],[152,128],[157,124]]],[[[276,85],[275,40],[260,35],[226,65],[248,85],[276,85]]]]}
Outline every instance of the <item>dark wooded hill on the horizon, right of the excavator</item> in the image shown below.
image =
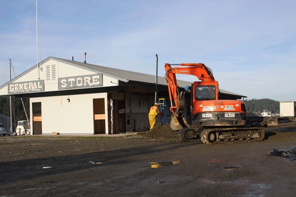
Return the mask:
{"type": "Polygon", "coordinates": [[[259,115],[264,110],[272,114],[280,113],[280,102],[272,99],[244,100],[247,112],[259,115]]]}

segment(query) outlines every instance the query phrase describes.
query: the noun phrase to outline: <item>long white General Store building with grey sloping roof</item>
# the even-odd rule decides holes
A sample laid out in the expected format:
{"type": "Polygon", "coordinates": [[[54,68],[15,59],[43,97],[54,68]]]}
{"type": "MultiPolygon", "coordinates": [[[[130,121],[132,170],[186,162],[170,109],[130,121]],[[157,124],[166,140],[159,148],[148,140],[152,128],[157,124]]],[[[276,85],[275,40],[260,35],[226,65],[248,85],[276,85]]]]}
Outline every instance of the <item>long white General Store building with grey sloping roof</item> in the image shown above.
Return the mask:
{"type": "MultiPolygon", "coordinates": [[[[168,98],[165,78],[158,77],[158,84],[158,97],[168,98]]],[[[0,96],[30,98],[31,134],[111,134],[148,131],[154,91],[154,75],[49,57],[2,85],[0,96]]],[[[245,97],[220,92],[224,99],[245,97]]]]}

